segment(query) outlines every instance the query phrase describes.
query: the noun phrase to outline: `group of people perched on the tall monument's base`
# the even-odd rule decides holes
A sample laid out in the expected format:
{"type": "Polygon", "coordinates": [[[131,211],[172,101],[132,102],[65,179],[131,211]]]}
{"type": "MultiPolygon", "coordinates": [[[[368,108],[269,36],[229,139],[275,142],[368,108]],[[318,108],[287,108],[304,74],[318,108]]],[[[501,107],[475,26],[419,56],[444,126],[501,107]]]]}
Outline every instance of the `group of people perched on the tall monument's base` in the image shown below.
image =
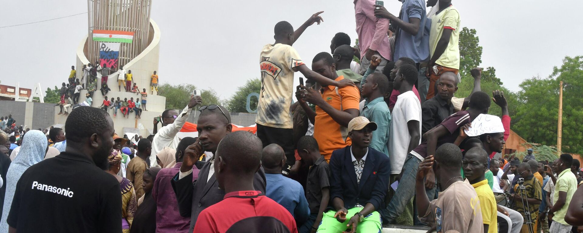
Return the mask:
{"type": "MultiPolygon", "coordinates": [[[[59,103],[55,105],[61,108],[58,115],[68,115],[73,108],[79,106],[92,106],[93,93],[96,90],[101,91],[101,96],[104,98],[103,103],[99,108],[103,108],[105,111],[111,110],[114,117],[117,116],[117,111],[120,110],[122,115],[126,118],[129,118],[130,112],[135,112],[135,118],[140,119],[142,111],[147,111],[147,91],[145,88],[139,90],[138,83],[134,82],[132,86],[132,80],[134,80],[132,70],[126,72],[124,68],[120,68],[115,71],[118,73],[118,91],[121,91],[121,87],[123,86],[125,92],[136,93],[137,96],[141,96],[142,100],[138,97],[136,97],[135,101],[134,97],[131,97],[130,100],[127,98],[120,100],[120,97],[117,97],[117,100],[115,100],[115,98],[112,97],[110,100],[107,97],[107,93],[111,91],[107,84],[108,76],[114,73],[114,70],[108,68],[106,63],[103,64],[103,67],[99,62],[96,62],[96,65],[87,63],[87,65],[83,65],[82,70],[83,73],[81,75],[81,80],[76,79],[75,66],[71,66],[68,83],[61,84],[61,89],[59,89],[60,100],[59,103]],[[100,87],[97,87],[98,72],[101,75],[100,87]],[[87,90],[87,93],[85,94],[86,99],[83,102],[79,102],[81,90],[87,90]]],[[[150,94],[154,94],[154,90],[156,90],[156,93],[158,92],[158,75],[156,74],[156,71],[154,71],[150,77],[150,89],[150,94]]]]}

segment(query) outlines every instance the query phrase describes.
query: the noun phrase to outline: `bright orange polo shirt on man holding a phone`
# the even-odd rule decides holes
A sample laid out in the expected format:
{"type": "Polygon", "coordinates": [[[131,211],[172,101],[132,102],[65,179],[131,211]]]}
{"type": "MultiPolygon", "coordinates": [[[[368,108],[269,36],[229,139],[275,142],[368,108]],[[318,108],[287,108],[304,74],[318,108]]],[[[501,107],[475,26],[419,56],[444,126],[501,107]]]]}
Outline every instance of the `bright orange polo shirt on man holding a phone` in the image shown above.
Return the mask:
{"type": "MultiPolygon", "coordinates": [[[[344,79],[344,76],[338,76],[336,81],[344,79]]],[[[336,94],[335,86],[323,87],[324,94],[322,99],[326,101],[333,108],[340,111],[345,111],[350,108],[359,109],[360,93],[359,89],[352,86],[342,87],[338,89],[336,94]],[[339,96],[340,95],[340,96],[339,96]],[[340,101],[342,97],[342,101],[340,101]],[[342,105],[342,107],[340,106],[342,105]]],[[[332,151],[342,149],[350,145],[350,138],[346,139],[348,135],[347,129],[336,123],[330,115],[328,115],[322,108],[316,106],[316,117],[314,123],[314,138],[318,141],[320,147],[320,154],[324,156],[326,161],[330,160],[332,151]]]]}

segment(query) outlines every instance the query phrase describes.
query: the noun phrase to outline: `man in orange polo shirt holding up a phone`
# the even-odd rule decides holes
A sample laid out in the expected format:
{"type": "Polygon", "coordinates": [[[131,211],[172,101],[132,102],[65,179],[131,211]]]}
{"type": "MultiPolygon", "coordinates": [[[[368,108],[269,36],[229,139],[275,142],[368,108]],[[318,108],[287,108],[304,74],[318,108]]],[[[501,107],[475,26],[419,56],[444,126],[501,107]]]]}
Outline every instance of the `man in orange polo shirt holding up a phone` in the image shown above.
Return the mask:
{"type": "MultiPolygon", "coordinates": [[[[328,79],[339,82],[344,79],[336,73],[336,65],[332,55],[320,52],[312,61],[312,70],[328,79]]],[[[353,86],[335,87],[322,85],[321,92],[301,86],[301,107],[314,122],[314,138],[318,141],[320,153],[329,163],[332,151],[344,148],[351,144],[347,139],[348,122],[358,117],[360,94],[359,89],[353,86]],[[316,105],[312,111],[307,102],[316,105]]]]}

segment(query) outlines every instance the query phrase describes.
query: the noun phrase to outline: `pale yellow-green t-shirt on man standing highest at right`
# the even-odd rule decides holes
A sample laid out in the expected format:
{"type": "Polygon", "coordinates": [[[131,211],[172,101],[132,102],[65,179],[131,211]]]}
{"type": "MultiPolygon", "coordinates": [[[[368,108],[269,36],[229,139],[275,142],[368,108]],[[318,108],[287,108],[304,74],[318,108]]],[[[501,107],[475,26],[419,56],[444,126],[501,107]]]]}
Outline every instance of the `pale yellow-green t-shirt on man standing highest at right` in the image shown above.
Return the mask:
{"type": "Polygon", "coordinates": [[[447,48],[436,61],[436,64],[448,68],[459,69],[459,30],[460,20],[458,9],[448,6],[436,16],[431,18],[431,31],[429,33],[430,57],[433,57],[437,48],[437,42],[441,38],[444,29],[451,29],[451,37],[447,48]]]}

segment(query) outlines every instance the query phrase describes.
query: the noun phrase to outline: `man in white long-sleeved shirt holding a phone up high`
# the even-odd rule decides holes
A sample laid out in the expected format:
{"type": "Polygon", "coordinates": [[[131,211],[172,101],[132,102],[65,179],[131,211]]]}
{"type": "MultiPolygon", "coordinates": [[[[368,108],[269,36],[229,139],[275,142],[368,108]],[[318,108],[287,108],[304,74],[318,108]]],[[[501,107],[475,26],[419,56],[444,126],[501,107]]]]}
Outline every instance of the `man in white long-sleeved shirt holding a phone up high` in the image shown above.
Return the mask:
{"type": "MultiPolygon", "coordinates": [[[[152,141],[152,153],[150,154],[150,167],[157,166],[156,154],[164,149],[165,146],[176,149],[180,140],[176,134],[182,129],[182,126],[187,121],[192,108],[202,103],[200,96],[191,96],[187,107],[184,107],[182,112],[178,114],[176,110],[165,110],[162,112],[158,122],[162,122],[162,128],[158,129],[154,140],[152,141]]],[[[156,120],[156,118],[154,118],[156,120]]],[[[156,122],[155,126],[158,123],[156,122]]]]}

